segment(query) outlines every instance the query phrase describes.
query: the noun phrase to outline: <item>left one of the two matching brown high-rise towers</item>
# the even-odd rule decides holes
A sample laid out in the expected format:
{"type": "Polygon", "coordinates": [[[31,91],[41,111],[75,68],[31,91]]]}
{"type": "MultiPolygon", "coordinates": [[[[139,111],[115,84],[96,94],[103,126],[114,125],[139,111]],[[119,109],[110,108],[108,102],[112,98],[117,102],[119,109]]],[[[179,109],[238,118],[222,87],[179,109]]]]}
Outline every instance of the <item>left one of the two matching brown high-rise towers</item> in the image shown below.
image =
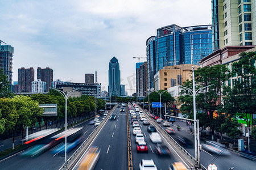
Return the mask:
{"type": "Polygon", "coordinates": [[[18,69],[18,92],[31,92],[31,83],[35,78],[35,70],[33,67],[18,69]]]}

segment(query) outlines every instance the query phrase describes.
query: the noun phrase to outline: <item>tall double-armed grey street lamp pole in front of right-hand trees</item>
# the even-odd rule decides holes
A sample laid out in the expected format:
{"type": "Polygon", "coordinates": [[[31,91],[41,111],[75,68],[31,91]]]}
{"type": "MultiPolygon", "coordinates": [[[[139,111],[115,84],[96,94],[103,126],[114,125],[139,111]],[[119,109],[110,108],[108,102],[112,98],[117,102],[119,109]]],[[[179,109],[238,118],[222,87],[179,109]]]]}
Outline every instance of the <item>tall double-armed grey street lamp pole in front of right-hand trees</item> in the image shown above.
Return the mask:
{"type": "Polygon", "coordinates": [[[177,86],[179,86],[181,88],[185,88],[186,90],[188,90],[193,95],[193,115],[194,115],[194,120],[193,121],[195,122],[194,123],[195,159],[196,159],[196,163],[198,163],[199,167],[200,167],[199,121],[196,120],[196,95],[198,94],[199,91],[203,90],[204,88],[213,86],[213,84],[211,84],[209,86],[206,86],[206,87],[199,88],[197,91],[195,91],[195,74],[194,74],[194,69],[195,69],[195,67],[192,66],[193,90],[191,90],[190,88],[187,88],[187,87],[180,86],[180,85],[177,85],[177,86]],[[196,127],[196,124],[198,124],[197,127],[196,127]],[[198,132],[197,132],[197,128],[198,128],[198,132]],[[196,138],[197,138],[197,141],[196,141],[196,138]]]}

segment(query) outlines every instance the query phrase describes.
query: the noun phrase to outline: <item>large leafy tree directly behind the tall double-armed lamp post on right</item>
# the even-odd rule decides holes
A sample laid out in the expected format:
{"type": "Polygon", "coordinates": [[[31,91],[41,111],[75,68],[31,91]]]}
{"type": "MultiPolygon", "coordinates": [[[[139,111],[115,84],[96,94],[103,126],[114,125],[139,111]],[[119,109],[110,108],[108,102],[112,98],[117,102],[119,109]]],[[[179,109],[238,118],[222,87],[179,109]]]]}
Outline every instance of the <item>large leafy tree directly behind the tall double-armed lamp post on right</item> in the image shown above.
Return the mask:
{"type": "MultiPolygon", "coordinates": [[[[226,74],[228,69],[224,65],[214,65],[210,67],[198,68],[195,70],[195,90],[209,85],[208,88],[199,92],[196,96],[197,114],[204,114],[204,120],[200,119],[200,126],[210,127],[212,130],[212,138],[216,129],[216,117],[218,117],[217,109],[221,107],[220,96],[222,82],[228,80],[230,74],[226,74]],[[201,112],[201,113],[200,113],[201,112]],[[216,115],[217,114],[217,115],[216,115]]],[[[183,86],[193,89],[192,80],[184,82],[183,86]]],[[[185,92],[183,90],[182,92],[185,92]]],[[[193,118],[193,97],[187,92],[187,95],[178,97],[181,105],[181,112],[187,114],[189,118],[193,118]]],[[[201,116],[202,117],[202,116],[201,116]]],[[[200,118],[200,117],[199,117],[200,118]]]]}

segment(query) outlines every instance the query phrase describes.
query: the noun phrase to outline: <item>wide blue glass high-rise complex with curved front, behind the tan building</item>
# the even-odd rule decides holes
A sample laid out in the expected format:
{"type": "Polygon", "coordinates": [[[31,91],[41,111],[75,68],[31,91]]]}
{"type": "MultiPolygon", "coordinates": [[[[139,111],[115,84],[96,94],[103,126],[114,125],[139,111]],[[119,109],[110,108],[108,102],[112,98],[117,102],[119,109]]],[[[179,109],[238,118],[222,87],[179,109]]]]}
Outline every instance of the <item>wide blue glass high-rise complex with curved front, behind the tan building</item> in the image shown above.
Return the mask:
{"type": "Polygon", "coordinates": [[[173,65],[199,65],[202,58],[212,53],[212,25],[167,25],[158,28],[156,36],[147,39],[146,45],[147,90],[153,90],[158,70],[173,65]]]}

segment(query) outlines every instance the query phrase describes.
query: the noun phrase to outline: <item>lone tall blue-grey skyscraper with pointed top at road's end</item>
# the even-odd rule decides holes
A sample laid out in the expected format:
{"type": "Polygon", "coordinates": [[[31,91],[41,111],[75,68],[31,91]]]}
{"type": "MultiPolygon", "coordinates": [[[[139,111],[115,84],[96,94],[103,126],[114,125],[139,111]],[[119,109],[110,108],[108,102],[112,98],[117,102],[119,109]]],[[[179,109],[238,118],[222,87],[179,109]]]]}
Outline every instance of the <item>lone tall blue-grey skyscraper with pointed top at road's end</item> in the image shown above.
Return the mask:
{"type": "Polygon", "coordinates": [[[120,69],[118,59],[113,57],[109,62],[109,92],[120,96],[120,69]]]}

